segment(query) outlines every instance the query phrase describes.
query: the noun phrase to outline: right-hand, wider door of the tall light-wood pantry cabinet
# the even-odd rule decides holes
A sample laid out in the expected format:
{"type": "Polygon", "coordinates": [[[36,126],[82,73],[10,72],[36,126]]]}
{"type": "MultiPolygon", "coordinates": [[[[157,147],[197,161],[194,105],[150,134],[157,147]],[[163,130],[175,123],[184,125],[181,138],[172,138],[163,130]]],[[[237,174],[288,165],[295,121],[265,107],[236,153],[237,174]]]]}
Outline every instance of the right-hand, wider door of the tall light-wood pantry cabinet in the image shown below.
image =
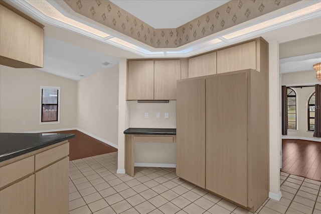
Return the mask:
{"type": "Polygon", "coordinates": [[[206,78],[206,189],[247,206],[246,73],[206,78]]]}

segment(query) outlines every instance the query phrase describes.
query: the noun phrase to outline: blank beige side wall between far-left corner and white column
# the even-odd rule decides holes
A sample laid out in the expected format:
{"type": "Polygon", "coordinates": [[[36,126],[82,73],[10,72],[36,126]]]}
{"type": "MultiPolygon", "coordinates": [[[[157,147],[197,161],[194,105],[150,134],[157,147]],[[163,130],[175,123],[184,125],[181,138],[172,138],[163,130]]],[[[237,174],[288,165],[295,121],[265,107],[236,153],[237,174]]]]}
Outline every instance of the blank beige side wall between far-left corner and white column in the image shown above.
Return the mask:
{"type": "Polygon", "coordinates": [[[115,65],[77,82],[77,128],[118,145],[118,69],[115,65]]]}

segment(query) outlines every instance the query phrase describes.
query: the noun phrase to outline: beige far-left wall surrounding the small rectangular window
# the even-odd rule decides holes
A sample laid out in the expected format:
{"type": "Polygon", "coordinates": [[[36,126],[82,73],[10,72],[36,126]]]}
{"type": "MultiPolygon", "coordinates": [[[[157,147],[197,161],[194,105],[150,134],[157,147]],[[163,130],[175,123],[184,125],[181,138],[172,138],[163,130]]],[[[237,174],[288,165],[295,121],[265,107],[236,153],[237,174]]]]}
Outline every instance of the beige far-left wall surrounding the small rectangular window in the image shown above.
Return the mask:
{"type": "Polygon", "coordinates": [[[74,129],[76,103],[76,81],[32,68],[0,65],[0,132],[74,129]],[[40,125],[40,86],[60,87],[60,124],[40,125]]]}

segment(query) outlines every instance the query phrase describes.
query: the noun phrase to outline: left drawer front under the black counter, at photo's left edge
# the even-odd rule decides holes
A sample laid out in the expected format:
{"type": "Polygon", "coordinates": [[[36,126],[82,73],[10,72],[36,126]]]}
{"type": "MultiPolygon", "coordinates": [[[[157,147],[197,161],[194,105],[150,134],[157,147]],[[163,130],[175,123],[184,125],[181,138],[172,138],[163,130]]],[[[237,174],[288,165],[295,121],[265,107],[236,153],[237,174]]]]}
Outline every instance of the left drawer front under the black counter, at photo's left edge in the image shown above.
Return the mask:
{"type": "Polygon", "coordinates": [[[0,168],[0,188],[34,172],[35,157],[8,164],[0,168]]]}

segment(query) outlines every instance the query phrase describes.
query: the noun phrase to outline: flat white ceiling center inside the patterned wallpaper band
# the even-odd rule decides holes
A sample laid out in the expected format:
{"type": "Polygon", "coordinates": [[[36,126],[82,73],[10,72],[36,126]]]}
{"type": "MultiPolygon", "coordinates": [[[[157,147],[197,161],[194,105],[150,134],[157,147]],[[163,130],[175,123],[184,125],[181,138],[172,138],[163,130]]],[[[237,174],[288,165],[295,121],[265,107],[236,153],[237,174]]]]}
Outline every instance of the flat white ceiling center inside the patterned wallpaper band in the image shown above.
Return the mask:
{"type": "Polygon", "coordinates": [[[178,28],[230,0],[111,0],[153,28],[178,28]]]}

